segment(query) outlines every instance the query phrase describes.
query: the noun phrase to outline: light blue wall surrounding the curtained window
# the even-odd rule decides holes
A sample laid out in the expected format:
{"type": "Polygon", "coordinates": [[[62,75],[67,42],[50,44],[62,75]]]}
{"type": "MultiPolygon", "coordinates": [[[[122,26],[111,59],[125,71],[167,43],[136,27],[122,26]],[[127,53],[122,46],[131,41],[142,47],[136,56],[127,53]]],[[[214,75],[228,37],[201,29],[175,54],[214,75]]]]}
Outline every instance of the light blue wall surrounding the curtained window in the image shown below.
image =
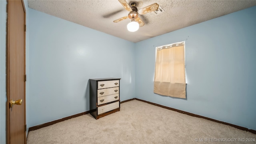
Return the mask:
{"type": "Polygon", "coordinates": [[[256,130],[256,6],[135,47],[136,98],[256,130]],[[154,94],[155,47],[181,41],[187,99],[154,94]]]}

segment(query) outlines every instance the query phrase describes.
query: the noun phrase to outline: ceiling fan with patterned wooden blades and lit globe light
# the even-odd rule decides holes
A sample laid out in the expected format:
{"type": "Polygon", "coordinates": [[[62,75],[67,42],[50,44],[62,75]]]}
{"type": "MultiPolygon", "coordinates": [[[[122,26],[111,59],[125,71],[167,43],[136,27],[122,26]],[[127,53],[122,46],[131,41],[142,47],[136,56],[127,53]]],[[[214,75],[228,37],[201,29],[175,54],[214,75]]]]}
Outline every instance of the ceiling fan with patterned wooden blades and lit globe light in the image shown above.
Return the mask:
{"type": "Polygon", "coordinates": [[[130,18],[131,22],[127,25],[127,29],[130,32],[135,32],[139,29],[139,26],[144,26],[144,22],[140,19],[139,14],[147,14],[149,12],[153,12],[155,10],[158,10],[159,5],[157,3],[151,4],[149,6],[146,6],[140,10],[136,7],[136,2],[131,3],[131,7],[125,0],[118,0],[122,6],[129,11],[128,16],[124,16],[122,18],[119,18],[117,20],[114,20],[114,22],[120,22],[121,20],[125,20],[126,18],[130,18]]]}

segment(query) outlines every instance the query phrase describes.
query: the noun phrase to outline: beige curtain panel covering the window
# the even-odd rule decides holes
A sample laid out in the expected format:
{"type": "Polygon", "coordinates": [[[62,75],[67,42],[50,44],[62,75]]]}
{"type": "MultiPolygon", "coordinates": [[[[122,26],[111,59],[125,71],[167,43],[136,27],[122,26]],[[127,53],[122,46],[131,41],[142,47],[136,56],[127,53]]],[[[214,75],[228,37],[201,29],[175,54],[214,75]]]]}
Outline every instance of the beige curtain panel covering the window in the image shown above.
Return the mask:
{"type": "Polygon", "coordinates": [[[154,93],[186,98],[184,42],[156,48],[154,93]]]}

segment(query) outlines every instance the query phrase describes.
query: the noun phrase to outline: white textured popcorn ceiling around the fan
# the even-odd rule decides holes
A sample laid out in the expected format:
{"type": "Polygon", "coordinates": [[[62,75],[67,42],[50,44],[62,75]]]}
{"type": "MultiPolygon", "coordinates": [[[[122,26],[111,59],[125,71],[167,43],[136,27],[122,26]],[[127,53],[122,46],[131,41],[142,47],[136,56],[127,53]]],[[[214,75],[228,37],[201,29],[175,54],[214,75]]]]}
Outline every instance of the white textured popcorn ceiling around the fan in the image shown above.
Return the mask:
{"type": "Polygon", "coordinates": [[[129,32],[130,19],[118,0],[28,0],[34,10],[68,20],[131,42],[140,42],[180,28],[198,24],[256,5],[256,0],[126,0],[137,3],[138,10],[158,3],[165,12],[139,15],[145,23],[136,32],[129,32]]]}

